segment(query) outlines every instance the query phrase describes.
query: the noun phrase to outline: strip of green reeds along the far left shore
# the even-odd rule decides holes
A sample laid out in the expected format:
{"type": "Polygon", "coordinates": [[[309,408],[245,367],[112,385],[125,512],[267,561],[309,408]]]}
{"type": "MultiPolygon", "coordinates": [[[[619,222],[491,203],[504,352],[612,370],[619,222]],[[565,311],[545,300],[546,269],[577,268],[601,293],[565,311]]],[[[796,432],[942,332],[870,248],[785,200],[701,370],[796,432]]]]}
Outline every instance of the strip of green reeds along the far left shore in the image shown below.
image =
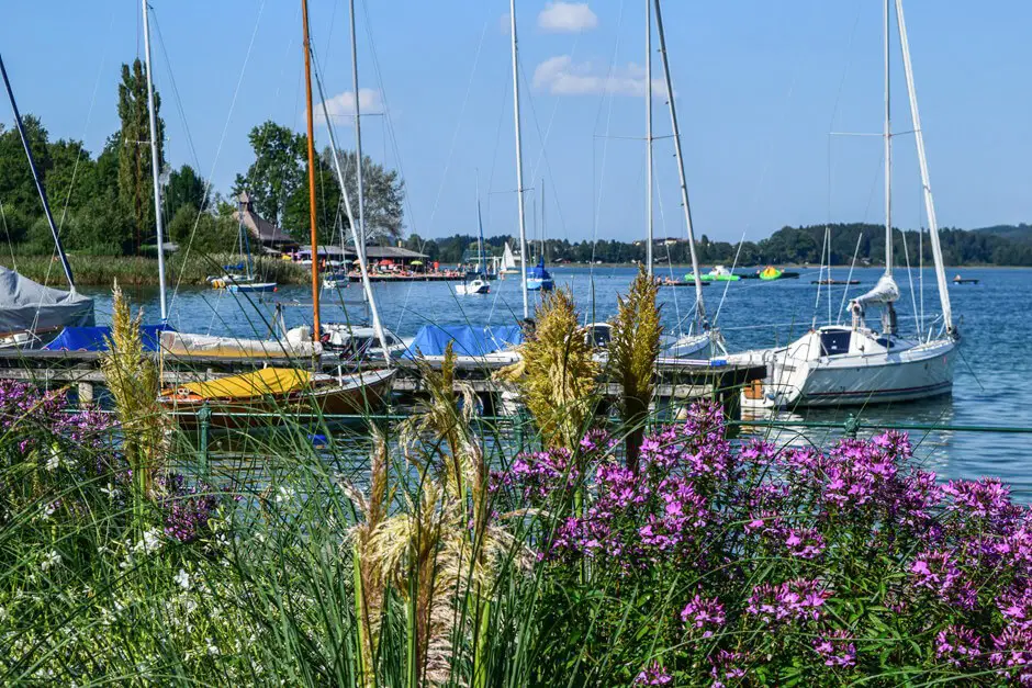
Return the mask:
{"type": "MultiPolygon", "coordinates": [[[[156,258],[141,258],[127,256],[70,256],[71,271],[76,284],[92,286],[111,286],[114,280],[125,286],[157,286],[158,261],[156,258]]],[[[166,274],[169,284],[205,285],[207,278],[222,273],[222,266],[237,263],[239,256],[193,255],[183,269],[182,258],[171,256],[166,264],[166,274]],[[180,281],[181,280],[181,281],[180,281]]],[[[304,266],[281,260],[279,258],[259,257],[255,259],[256,271],[262,280],[279,284],[307,284],[311,279],[304,266]]],[[[60,286],[65,282],[60,263],[46,256],[26,256],[19,258],[16,263],[10,259],[0,261],[7,268],[16,269],[31,280],[46,281],[52,286],[60,286]]]]}

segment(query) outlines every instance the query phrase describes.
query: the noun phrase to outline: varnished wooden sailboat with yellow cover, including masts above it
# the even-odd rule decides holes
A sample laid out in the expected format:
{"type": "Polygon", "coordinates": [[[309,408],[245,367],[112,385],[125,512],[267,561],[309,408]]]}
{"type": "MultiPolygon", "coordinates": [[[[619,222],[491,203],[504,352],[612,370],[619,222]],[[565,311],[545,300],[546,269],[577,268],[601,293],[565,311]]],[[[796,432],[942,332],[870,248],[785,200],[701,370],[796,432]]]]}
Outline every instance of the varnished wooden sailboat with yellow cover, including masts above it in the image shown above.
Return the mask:
{"type": "MultiPolygon", "coordinates": [[[[312,246],[317,246],[316,240],[316,206],[315,206],[315,137],[312,108],[312,67],[311,67],[311,42],[309,40],[309,4],[307,0],[301,0],[301,12],[304,31],[304,63],[305,63],[305,104],[307,114],[307,153],[309,153],[309,203],[312,246]]],[[[350,24],[351,24],[351,59],[352,77],[356,81],[355,87],[355,116],[356,132],[358,132],[358,74],[355,47],[355,1],[350,2],[350,24]]],[[[322,97],[322,87],[319,87],[322,97]]],[[[360,236],[364,236],[364,226],[362,217],[362,177],[361,168],[358,171],[359,189],[359,226],[356,226],[351,217],[351,206],[348,201],[347,187],[344,183],[344,173],[340,169],[339,156],[337,155],[337,143],[333,134],[332,120],[325,112],[326,99],[321,98],[324,114],[326,115],[327,128],[329,131],[330,146],[334,151],[334,165],[337,178],[340,183],[341,195],[348,218],[351,225],[351,235],[357,247],[362,247],[363,243],[360,236]]],[[[357,134],[358,135],[358,134],[357,134]]],[[[361,148],[358,147],[358,159],[361,160],[361,148]]],[[[391,366],[391,357],[383,329],[380,326],[379,313],[377,311],[375,300],[369,283],[369,270],[366,263],[364,251],[359,248],[358,251],[359,268],[362,274],[362,285],[369,300],[370,311],[373,318],[373,327],[380,339],[382,352],[388,366],[382,370],[359,370],[356,373],[328,375],[323,373],[311,373],[301,368],[265,368],[242,375],[231,375],[220,380],[206,383],[195,383],[181,385],[179,387],[166,391],[161,401],[175,410],[183,411],[188,424],[191,418],[201,408],[215,406],[226,413],[218,416],[222,422],[229,426],[236,426],[245,420],[245,414],[268,413],[270,409],[285,411],[289,414],[299,414],[309,410],[310,413],[363,413],[382,405],[386,395],[390,393],[391,381],[395,369],[391,366]]],[[[318,340],[322,337],[322,327],[319,325],[319,275],[318,261],[312,261],[312,316],[314,328],[311,330],[315,341],[313,346],[318,347],[318,340]]],[[[217,424],[216,424],[217,425],[217,424]]]]}

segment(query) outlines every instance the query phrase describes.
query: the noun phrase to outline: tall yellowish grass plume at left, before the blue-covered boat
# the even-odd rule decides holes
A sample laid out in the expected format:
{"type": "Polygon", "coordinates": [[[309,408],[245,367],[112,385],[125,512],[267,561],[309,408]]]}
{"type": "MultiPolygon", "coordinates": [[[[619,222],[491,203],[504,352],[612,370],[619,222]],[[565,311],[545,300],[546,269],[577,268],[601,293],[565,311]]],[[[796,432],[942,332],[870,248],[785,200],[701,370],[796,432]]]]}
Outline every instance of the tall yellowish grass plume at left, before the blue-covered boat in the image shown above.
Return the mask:
{"type": "Polygon", "coordinates": [[[100,368],[114,397],[133,483],[141,496],[149,496],[167,449],[167,418],[158,403],[161,381],[139,338],[143,308],[133,317],[117,281],[112,296],[111,336],[100,368]]]}

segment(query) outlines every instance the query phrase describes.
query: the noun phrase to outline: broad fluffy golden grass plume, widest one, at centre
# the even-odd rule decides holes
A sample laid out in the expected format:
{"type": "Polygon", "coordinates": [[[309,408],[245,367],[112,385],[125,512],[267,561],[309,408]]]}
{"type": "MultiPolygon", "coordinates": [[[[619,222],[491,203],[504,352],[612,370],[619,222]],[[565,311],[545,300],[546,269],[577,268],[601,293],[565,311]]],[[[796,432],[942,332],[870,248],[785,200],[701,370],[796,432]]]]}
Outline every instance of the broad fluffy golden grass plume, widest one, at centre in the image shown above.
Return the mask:
{"type": "Polygon", "coordinates": [[[498,371],[515,382],[547,447],[575,451],[595,408],[598,364],[577,324],[568,289],[547,294],[532,337],[519,346],[520,363],[498,371]]]}

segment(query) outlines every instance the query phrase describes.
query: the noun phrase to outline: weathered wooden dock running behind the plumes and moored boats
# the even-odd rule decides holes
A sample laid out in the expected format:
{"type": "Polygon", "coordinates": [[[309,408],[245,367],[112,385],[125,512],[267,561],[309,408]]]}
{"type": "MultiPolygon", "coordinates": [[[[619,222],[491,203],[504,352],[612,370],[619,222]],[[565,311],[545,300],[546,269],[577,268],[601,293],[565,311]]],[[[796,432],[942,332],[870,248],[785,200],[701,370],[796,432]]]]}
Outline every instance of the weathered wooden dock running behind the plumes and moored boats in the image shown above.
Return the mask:
{"type": "MultiPolygon", "coordinates": [[[[157,354],[154,354],[157,359],[157,354]]],[[[94,387],[104,385],[100,370],[101,354],[96,351],[45,351],[0,350],[0,380],[31,382],[45,387],[70,386],[77,391],[80,404],[94,399],[94,387]]],[[[165,356],[161,363],[161,381],[166,385],[216,380],[226,375],[253,371],[266,365],[305,368],[315,372],[334,373],[341,365],[355,369],[354,362],[337,357],[322,356],[304,361],[288,358],[173,358],[165,356]]],[[[436,364],[439,368],[439,363],[436,364]]],[[[471,388],[493,409],[512,403],[516,387],[495,379],[494,373],[508,363],[484,362],[460,357],[456,362],[456,390],[471,388]]],[[[382,362],[368,364],[370,370],[382,368],[382,362]]],[[[423,395],[424,382],[419,365],[412,360],[395,361],[399,372],[393,381],[393,391],[402,397],[417,399],[423,395]]],[[[434,364],[431,364],[434,368],[434,364]]],[[[766,375],[762,365],[728,364],[722,361],[661,358],[657,361],[655,397],[658,404],[677,406],[697,398],[717,398],[725,407],[728,418],[740,419],[740,391],[766,375]]],[[[620,385],[599,380],[603,395],[616,399],[620,385]]]]}

